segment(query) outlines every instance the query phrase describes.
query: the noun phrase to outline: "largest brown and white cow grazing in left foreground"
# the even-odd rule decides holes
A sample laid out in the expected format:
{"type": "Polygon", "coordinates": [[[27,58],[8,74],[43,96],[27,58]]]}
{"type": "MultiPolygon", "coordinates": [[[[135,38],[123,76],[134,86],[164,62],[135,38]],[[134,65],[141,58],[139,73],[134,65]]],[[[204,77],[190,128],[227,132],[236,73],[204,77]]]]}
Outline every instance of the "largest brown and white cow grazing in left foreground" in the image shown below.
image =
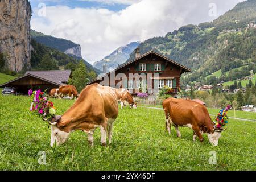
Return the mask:
{"type": "Polygon", "coordinates": [[[62,115],[50,119],[51,146],[64,143],[72,131],[88,133],[88,142],[93,146],[93,133],[101,130],[101,144],[106,146],[108,128],[109,143],[112,140],[113,123],[118,115],[118,102],[115,90],[109,86],[92,84],[86,86],[76,102],[62,115]]]}

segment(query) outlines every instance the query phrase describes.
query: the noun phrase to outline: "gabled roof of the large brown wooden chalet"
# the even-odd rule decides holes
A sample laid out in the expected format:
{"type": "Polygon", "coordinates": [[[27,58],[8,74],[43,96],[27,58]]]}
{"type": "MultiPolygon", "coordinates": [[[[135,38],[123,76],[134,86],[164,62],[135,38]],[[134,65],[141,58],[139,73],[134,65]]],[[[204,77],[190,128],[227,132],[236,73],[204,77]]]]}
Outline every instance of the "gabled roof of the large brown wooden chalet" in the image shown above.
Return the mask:
{"type": "MultiPolygon", "coordinates": [[[[185,67],[185,66],[183,66],[183,65],[181,65],[181,64],[179,64],[179,63],[177,63],[177,62],[175,62],[174,60],[169,59],[169,58],[166,57],[166,56],[160,55],[159,53],[157,53],[157,52],[151,50],[151,51],[148,51],[147,53],[144,53],[143,55],[141,55],[141,56],[135,58],[134,60],[129,61],[128,63],[121,65],[121,67],[118,67],[118,68],[114,69],[113,71],[108,72],[108,73],[106,73],[105,75],[102,75],[100,78],[103,78],[104,76],[109,75],[110,73],[115,72],[115,71],[117,71],[118,69],[121,69],[121,68],[125,67],[126,65],[129,65],[129,64],[131,64],[131,63],[134,63],[135,61],[137,61],[137,60],[139,60],[139,59],[142,59],[142,57],[145,57],[145,56],[150,55],[150,54],[154,54],[154,55],[156,55],[156,56],[162,57],[162,59],[164,59],[164,60],[166,60],[166,61],[169,61],[170,63],[172,63],[172,64],[174,64],[174,65],[177,65],[177,67],[183,68],[183,69],[184,69],[184,72],[192,72],[191,69],[189,69],[189,68],[187,68],[187,67],[185,67]]],[[[94,80],[92,80],[92,81],[90,81],[90,82],[88,82],[88,84],[91,84],[91,83],[93,83],[94,81],[97,81],[97,78],[94,79],[94,80]]]]}

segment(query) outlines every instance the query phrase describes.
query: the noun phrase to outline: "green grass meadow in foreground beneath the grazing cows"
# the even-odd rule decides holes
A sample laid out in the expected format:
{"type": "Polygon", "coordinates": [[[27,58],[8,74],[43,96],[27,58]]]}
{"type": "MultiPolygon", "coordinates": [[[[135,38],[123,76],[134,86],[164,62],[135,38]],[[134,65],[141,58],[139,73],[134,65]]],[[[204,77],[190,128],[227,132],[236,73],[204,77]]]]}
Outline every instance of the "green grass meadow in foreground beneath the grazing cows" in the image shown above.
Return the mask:
{"type": "MultiPolygon", "coordinates": [[[[114,123],[112,144],[102,147],[100,130],[89,147],[82,131],[71,134],[68,142],[51,147],[51,129],[29,111],[30,98],[0,96],[1,170],[255,170],[256,122],[230,119],[217,147],[207,136],[204,143],[192,142],[193,131],[181,128],[177,138],[164,130],[163,110],[138,107],[119,111],[114,123]],[[38,164],[38,152],[46,152],[46,165],[38,164]],[[209,164],[210,151],[217,164],[209,164]]],[[[73,104],[53,100],[57,114],[73,104]]],[[[214,111],[215,112],[215,111],[214,111]]]]}

